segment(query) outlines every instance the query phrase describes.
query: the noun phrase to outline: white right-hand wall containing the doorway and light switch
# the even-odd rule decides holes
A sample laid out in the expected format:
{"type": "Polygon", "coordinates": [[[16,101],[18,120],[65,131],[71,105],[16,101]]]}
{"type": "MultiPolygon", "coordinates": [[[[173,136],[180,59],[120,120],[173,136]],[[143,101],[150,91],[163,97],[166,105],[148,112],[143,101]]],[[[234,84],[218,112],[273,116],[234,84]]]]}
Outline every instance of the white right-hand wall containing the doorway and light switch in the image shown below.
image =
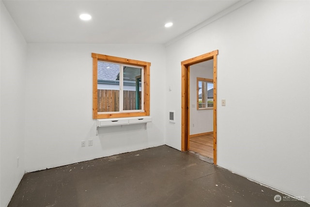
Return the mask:
{"type": "Polygon", "coordinates": [[[309,1],[252,1],[169,45],[166,113],[179,119],[166,143],[181,149],[181,61],[218,49],[217,164],[309,202],[309,11],[309,1]]]}

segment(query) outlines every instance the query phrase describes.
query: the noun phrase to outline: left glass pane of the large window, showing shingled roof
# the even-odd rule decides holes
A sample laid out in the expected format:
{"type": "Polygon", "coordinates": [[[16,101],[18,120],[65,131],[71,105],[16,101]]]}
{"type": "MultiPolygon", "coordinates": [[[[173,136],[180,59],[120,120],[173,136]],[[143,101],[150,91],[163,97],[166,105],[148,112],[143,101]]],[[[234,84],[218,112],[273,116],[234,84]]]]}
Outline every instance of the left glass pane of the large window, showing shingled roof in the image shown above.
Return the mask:
{"type": "Polygon", "coordinates": [[[98,61],[98,112],[119,111],[120,64],[98,61]]]}

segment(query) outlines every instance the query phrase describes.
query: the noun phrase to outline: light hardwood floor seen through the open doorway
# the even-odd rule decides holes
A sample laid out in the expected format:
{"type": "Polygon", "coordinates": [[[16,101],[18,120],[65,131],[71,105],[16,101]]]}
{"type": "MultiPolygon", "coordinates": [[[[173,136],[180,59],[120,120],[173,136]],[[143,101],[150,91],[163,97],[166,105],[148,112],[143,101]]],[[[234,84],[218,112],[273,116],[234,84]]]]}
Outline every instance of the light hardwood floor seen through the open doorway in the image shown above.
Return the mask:
{"type": "Polygon", "coordinates": [[[189,150],[213,159],[213,134],[190,137],[189,150]]]}

